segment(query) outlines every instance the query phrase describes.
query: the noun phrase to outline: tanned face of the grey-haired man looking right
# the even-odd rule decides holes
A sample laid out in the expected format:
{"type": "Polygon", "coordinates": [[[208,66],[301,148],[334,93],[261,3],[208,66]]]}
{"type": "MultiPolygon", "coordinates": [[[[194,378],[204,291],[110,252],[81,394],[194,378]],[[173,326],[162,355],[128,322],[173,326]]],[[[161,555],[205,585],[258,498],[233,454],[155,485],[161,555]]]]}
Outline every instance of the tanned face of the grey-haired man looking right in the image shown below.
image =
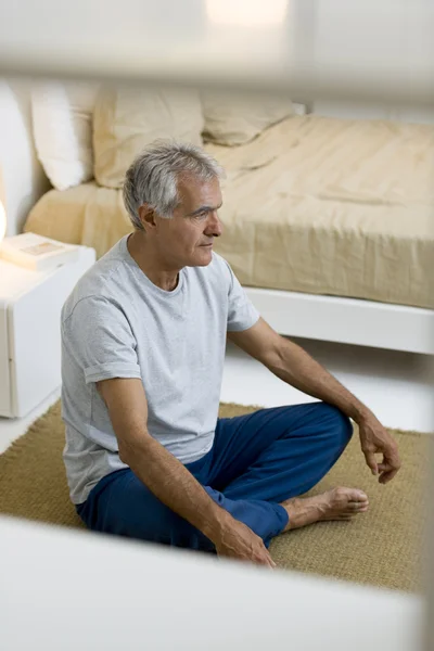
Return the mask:
{"type": "Polygon", "coordinates": [[[204,267],[212,260],[214,238],[222,227],[217,210],[221,206],[218,179],[201,181],[192,176],[178,180],[180,203],[171,219],[156,217],[156,240],[166,264],[175,268],[204,267]]]}

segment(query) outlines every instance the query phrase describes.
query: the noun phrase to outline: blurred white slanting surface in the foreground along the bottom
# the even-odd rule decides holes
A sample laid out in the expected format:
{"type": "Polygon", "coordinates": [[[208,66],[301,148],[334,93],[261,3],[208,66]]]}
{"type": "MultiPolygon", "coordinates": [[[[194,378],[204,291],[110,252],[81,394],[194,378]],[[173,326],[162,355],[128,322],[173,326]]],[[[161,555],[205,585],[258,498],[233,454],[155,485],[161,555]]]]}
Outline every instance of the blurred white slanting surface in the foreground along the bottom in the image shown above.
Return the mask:
{"type": "Polygon", "coordinates": [[[414,651],[422,599],[0,518],[4,651],[414,651]]]}

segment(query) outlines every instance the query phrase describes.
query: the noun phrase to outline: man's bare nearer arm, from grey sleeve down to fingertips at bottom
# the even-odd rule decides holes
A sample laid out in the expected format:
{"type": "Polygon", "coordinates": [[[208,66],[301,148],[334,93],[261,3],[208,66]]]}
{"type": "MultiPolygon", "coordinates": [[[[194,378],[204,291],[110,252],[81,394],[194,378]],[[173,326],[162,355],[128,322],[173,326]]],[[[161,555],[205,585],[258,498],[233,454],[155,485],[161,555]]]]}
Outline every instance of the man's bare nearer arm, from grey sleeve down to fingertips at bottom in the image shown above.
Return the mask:
{"type": "Polygon", "coordinates": [[[115,431],[119,457],[169,509],[207,536],[220,556],[275,566],[257,536],[219,507],[187,468],[146,429],[148,403],[141,380],[98,382],[115,431]]]}

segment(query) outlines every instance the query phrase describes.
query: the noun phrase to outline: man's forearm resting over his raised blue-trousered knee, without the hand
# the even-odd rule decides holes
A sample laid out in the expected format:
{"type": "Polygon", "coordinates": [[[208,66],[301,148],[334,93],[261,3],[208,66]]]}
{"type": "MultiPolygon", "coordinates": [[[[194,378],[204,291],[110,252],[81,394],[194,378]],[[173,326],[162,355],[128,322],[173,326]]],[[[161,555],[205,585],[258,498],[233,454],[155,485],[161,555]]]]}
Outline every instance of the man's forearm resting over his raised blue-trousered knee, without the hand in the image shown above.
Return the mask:
{"type": "Polygon", "coordinates": [[[278,378],[299,391],[335,405],[356,422],[372,412],[345,388],[329,371],[310,357],[303,348],[283,340],[280,353],[269,366],[278,378]]]}

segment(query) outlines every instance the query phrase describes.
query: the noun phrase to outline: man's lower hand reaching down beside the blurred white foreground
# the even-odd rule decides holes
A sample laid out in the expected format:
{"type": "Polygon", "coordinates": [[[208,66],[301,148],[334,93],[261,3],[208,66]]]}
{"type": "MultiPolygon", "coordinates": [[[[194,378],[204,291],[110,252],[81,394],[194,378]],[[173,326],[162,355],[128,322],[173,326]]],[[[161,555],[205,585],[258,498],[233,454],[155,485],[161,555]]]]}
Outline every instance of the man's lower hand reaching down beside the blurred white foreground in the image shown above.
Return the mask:
{"type": "Polygon", "coordinates": [[[230,524],[225,526],[213,542],[218,556],[276,567],[263,539],[239,520],[231,518],[230,524]]]}

